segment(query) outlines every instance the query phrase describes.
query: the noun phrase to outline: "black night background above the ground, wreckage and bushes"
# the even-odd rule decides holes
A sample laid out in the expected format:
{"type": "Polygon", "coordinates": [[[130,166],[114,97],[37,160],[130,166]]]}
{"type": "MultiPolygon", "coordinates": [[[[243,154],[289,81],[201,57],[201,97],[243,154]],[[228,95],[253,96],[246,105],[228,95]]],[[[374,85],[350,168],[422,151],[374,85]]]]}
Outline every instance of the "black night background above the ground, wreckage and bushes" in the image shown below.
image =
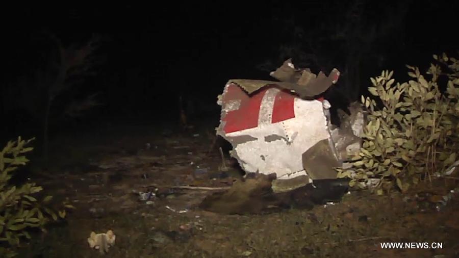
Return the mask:
{"type": "Polygon", "coordinates": [[[57,76],[49,68],[57,57],[51,34],[64,47],[99,38],[93,74],[50,105],[52,140],[56,132],[103,121],[178,126],[180,95],[191,122],[216,126],[217,95],[229,79],[270,80],[269,71],[289,57],[315,73],[337,67],[342,77],[326,94],[342,106],[365,94],[382,69],[404,80],[405,64],[426,68],[432,54],[455,55],[457,10],[456,1],[358,0],[11,7],[4,12],[14,19],[6,24],[18,29],[2,40],[0,139],[42,140],[45,89],[57,76]],[[93,93],[101,105],[77,118],[65,115],[73,100],[93,93]]]}

